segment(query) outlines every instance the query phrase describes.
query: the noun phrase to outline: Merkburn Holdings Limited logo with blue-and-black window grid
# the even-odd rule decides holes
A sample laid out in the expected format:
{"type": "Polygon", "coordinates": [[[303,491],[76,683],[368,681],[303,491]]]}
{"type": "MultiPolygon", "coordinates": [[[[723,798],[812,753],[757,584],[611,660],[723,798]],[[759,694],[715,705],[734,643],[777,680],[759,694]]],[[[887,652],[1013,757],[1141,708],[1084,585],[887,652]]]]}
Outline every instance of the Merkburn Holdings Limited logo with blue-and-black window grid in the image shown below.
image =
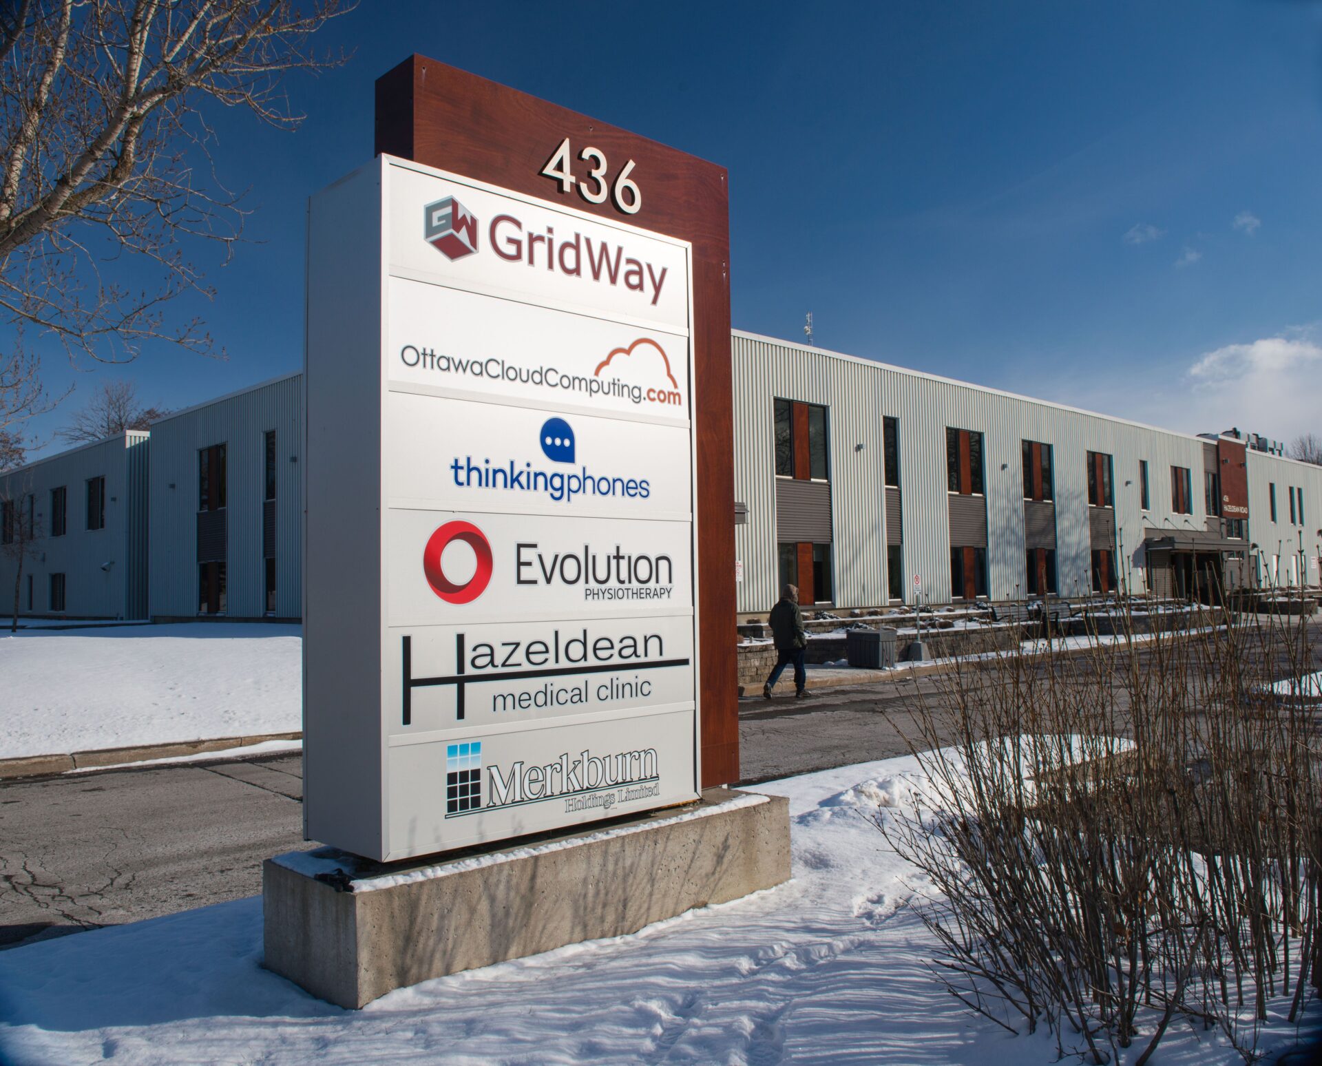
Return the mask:
{"type": "Polygon", "coordinates": [[[446,747],[446,817],[476,815],[501,807],[521,807],[563,799],[564,809],[609,809],[616,803],[661,794],[660,757],[654,747],[637,751],[591,751],[570,758],[567,751],[550,763],[529,766],[522,759],[508,768],[486,767],[486,803],[481,795],[481,743],[446,747]],[[468,749],[467,751],[464,749],[468,749]],[[461,767],[451,770],[451,766],[461,767]],[[472,776],[469,776],[472,775],[472,776]]]}

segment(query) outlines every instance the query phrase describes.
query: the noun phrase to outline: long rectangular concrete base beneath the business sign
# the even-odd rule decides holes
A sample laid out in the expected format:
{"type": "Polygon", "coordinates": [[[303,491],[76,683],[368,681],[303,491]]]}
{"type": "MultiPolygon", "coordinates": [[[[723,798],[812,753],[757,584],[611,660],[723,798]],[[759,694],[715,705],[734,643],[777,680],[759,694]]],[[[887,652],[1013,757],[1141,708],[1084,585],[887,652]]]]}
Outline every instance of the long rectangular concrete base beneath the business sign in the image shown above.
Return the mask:
{"type": "Polygon", "coordinates": [[[360,1008],[394,988],[635,932],[788,880],[788,801],[727,788],[432,865],[291,852],[263,868],[266,965],[360,1008]]]}

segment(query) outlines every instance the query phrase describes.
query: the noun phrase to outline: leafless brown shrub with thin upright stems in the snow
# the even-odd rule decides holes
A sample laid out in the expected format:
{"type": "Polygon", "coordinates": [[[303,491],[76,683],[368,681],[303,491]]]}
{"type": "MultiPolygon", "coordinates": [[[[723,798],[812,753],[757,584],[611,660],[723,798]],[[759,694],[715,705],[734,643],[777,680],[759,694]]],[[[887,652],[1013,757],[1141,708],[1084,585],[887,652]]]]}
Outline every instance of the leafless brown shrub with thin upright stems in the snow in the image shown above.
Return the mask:
{"type": "Polygon", "coordinates": [[[910,738],[943,799],[878,825],[937,890],[924,921],[972,1009],[1099,1063],[1146,1062],[1177,1020],[1249,1061],[1269,1000],[1293,1021],[1322,980],[1318,751],[1270,694],[1317,669],[1309,630],[1219,612],[1140,636],[1137,606],[1081,653],[948,675],[910,738]]]}

